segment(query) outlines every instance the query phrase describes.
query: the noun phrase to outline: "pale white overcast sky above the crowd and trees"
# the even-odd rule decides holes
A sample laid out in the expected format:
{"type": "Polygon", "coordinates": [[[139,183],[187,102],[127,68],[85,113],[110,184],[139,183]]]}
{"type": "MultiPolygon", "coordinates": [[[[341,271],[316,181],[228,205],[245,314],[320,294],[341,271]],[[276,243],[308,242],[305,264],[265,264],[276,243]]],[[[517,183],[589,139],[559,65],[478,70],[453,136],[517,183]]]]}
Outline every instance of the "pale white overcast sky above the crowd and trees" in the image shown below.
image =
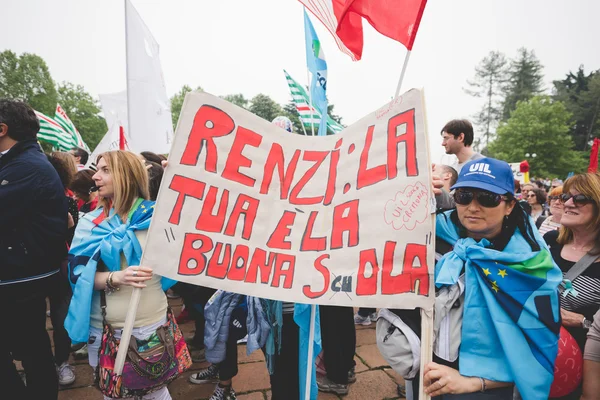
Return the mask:
{"type": "MultiPolygon", "coordinates": [[[[302,5],[296,0],[132,0],[161,46],[169,96],[182,85],[215,95],[290,95],[282,70],[307,83],[302,5]]],[[[125,89],[122,0],[0,0],[0,51],[36,53],[54,79],[92,95],[125,89]]],[[[432,159],[442,160],[439,130],[470,117],[480,100],[464,93],[477,63],[491,50],[512,57],[533,49],[546,89],[583,64],[600,68],[600,1],[429,0],[403,91],[423,87],[432,159]]],[[[363,59],[341,53],[318,20],[313,24],[329,66],[328,97],[351,124],[389,101],[406,49],[365,23],[363,59]]],[[[447,157],[443,159],[450,162],[447,157]]]]}

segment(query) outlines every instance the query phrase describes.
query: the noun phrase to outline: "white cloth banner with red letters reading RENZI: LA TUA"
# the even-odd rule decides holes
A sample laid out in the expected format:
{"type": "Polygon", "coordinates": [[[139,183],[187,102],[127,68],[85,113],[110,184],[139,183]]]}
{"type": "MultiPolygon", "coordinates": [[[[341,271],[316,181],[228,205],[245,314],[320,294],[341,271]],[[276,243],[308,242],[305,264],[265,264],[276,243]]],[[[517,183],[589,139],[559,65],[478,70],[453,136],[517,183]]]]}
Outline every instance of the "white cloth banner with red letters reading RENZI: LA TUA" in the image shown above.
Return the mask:
{"type": "Polygon", "coordinates": [[[186,96],[142,265],[263,298],[431,309],[434,230],[422,92],[307,137],[186,96]]]}

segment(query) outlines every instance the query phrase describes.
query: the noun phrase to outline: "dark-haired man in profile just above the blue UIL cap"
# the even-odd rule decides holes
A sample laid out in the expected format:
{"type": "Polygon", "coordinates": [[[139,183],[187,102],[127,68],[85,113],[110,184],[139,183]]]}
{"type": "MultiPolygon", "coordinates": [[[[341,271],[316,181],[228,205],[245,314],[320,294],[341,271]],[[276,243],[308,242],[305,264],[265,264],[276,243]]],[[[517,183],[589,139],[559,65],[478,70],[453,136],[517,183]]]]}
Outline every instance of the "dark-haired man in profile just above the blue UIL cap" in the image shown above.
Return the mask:
{"type": "Polygon", "coordinates": [[[442,146],[446,154],[454,154],[458,163],[452,165],[457,172],[467,161],[483,158],[479,153],[473,151],[473,125],[466,119],[453,119],[448,122],[441,131],[442,146]]]}

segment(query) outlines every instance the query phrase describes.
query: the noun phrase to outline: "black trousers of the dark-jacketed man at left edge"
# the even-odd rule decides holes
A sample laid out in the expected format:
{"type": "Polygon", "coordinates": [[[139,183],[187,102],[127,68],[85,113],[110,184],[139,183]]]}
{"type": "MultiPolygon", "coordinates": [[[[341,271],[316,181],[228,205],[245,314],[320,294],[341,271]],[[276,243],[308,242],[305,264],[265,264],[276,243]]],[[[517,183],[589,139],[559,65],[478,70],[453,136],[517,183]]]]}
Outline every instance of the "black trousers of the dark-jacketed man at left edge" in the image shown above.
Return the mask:
{"type": "Polygon", "coordinates": [[[46,296],[29,289],[48,282],[0,287],[0,377],[2,393],[19,400],[56,400],[58,377],[46,332],[46,296]],[[16,288],[16,286],[20,286],[16,288]],[[21,380],[13,359],[23,362],[27,386],[21,380]]]}

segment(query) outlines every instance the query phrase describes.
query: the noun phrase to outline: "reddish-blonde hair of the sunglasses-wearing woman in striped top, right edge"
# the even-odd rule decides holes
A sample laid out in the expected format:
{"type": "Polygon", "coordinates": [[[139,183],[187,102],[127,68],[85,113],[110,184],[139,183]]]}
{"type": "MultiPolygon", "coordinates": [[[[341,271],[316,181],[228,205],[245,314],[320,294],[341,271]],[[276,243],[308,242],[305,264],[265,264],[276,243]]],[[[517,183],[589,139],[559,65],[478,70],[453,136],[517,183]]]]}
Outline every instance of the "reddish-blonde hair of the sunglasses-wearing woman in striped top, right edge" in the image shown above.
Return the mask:
{"type": "MultiPolygon", "coordinates": [[[[600,253],[600,174],[587,173],[570,177],[563,185],[563,193],[569,193],[571,189],[593,200],[594,218],[587,228],[596,232],[594,253],[600,253]]],[[[566,226],[560,228],[558,243],[567,244],[573,241],[573,231],[566,226]]]]}

